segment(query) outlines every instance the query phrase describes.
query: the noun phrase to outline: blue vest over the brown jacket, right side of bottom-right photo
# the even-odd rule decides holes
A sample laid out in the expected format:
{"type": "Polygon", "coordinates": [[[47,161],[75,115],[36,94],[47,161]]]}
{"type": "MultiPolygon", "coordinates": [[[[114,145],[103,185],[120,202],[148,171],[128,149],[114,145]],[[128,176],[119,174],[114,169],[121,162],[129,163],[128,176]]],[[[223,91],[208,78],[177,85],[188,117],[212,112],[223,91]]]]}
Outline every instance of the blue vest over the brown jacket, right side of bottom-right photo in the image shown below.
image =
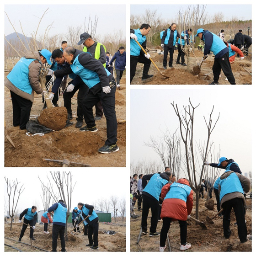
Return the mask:
{"type": "MultiPolygon", "coordinates": [[[[227,171],[225,171],[227,172],[227,171]]],[[[235,172],[231,173],[227,178],[224,180],[219,181],[219,185],[221,187],[220,195],[219,195],[219,202],[221,202],[222,197],[224,195],[233,193],[233,192],[240,192],[244,194],[243,187],[239,180],[239,177],[235,174],[235,172]]]]}

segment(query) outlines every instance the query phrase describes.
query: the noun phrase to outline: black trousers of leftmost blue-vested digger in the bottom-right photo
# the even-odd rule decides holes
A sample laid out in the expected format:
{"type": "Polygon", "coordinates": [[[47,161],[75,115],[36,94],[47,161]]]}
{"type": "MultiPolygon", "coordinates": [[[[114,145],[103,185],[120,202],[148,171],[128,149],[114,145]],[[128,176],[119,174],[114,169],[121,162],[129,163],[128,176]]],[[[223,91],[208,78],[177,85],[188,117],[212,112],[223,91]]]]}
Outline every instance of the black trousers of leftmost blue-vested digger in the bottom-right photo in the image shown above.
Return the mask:
{"type": "Polygon", "coordinates": [[[158,211],[159,211],[159,202],[156,199],[142,195],[142,216],[141,216],[141,228],[143,230],[148,229],[147,218],[149,215],[149,208],[151,209],[151,224],[149,231],[151,233],[156,232],[156,227],[158,223],[158,211]]]}

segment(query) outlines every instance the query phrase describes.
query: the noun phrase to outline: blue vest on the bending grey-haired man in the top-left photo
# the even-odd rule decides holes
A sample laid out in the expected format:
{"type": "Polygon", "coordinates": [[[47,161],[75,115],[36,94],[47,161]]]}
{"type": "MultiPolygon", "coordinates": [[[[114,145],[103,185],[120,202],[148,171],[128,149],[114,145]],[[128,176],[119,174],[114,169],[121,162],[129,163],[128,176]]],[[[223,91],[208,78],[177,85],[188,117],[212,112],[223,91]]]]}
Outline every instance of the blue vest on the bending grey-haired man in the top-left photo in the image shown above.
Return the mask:
{"type": "MultiPolygon", "coordinates": [[[[91,53],[80,53],[80,54],[91,54],[91,53]]],[[[84,81],[85,85],[87,85],[90,89],[98,84],[100,82],[99,75],[90,69],[86,69],[84,66],[82,66],[78,60],[78,54],[73,62],[72,65],[70,65],[73,73],[75,75],[79,75],[81,79],[84,81]]],[[[110,75],[110,72],[106,70],[107,76],[110,75]]]]}

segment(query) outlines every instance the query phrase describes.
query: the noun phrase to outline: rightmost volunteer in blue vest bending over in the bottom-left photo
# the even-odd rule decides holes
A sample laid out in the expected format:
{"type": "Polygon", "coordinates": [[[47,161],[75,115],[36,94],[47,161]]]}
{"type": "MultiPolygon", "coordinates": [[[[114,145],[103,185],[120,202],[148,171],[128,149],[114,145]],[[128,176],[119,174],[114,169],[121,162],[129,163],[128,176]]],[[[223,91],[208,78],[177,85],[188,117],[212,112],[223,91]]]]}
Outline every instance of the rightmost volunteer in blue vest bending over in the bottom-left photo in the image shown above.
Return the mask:
{"type": "Polygon", "coordinates": [[[83,221],[85,226],[88,225],[87,233],[89,244],[87,244],[86,246],[90,246],[90,248],[93,250],[98,250],[99,217],[97,213],[93,210],[93,205],[89,205],[87,203],[78,203],[77,207],[79,208],[79,210],[81,210],[81,215],[76,227],[78,227],[78,224],[88,216],[88,218],[83,221]]]}

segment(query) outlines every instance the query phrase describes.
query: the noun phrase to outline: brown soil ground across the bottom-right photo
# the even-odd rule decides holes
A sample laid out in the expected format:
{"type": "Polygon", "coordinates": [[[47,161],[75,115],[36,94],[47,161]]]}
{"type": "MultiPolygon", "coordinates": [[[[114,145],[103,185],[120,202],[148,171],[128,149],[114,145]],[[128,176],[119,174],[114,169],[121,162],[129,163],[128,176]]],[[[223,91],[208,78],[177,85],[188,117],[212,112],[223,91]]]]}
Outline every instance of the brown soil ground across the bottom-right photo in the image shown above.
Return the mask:
{"type": "MultiPolygon", "coordinates": [[[[216,199],[213,197],[215,203],[216,199]]],[[[216,217],[213,219],[214,224],[208,224],[206,217],[212,218],[217,213],[217,206],[214,206],[214,210],[205,208],[204,203],[206,199],[200,199],[199,202],[199,219],[203,221],[207,230],[203,230],[199,225],[195,224],[195,221],[188,220],[187,226],[187,242],[192,245],[189,251],[252,251],[252,242],[248,240],[244,244],[240,243],[238,238],[237,226],[234,225],[235,213],[231,212],[231,236],[229,239],[225,239],[222,228],[222,218],[216,217]]],[[[143,206],[142,206],[143,207],[143,206]]],[[[246,199],[246,226],[247,234],[251,235],[252,232],[252,215],[251,215],[251,199],[246,199]]],[[[135,209],[136,214],[142,212],[135,209]]],[[[149,213],[150,215],[151,213],[149,213]]],[[[195,217],[195,207],[193,207],[192,217],[195,217]]],[[[150,217],[148,217],[148,227],[150,225],[150,217]]],[[[157,231],[161,231],[162,221],[158,222],[157,231]]],[[[142,235],[137,244],[139,231],[140,231],[141,218],[131,219],[131,251],[159,251],[160,235],[156,237],[150,237],[149,235],[142,235]]],[[[149,230],[148,230],[149,231],[149,230]]],[[[171,223],[171,227],[168,232],[169,241],[171,244],[171,251],[180,251],[180,226],[177,221],[171,223]]],[[[166,240],[165,252],[170,252],[168,241],[166,240]]]]}

